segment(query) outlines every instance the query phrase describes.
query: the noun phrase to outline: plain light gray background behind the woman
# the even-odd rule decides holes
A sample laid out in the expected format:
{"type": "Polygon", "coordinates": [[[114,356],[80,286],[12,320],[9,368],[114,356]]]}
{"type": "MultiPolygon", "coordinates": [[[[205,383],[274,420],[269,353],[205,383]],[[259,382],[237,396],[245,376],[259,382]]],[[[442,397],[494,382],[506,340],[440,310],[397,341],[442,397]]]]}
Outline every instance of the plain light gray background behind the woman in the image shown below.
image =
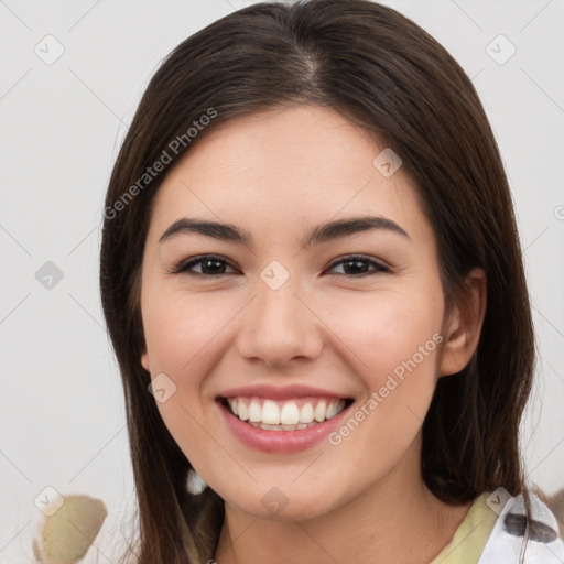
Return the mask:
{"type": "MultiPolygon", "coordinates": [[[[133,498],[97,286],[104,194],[159,62],[249,3],[0,1],[1,564],[33,560],[34,500],[47,486],[108,507],[86,562],[115,562],[122,549],[133,498]]],[[[530,478],[554,492],[564,487],[564,0],[386,3],[462,64],[499,142],[539,341],[521,443],[530,478]]]]}

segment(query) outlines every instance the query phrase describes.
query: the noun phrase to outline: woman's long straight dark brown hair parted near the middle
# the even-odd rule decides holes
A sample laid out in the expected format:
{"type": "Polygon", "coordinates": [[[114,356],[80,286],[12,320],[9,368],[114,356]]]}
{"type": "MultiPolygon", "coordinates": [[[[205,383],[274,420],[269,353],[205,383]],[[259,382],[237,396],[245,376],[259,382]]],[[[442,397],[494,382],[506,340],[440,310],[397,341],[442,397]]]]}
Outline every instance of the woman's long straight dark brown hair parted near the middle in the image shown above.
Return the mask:
{"type": "Polygon", "coordinates": [[[151,202],[165,174],[217,124],[289,104],[329,107],[400,155],[434,227],[447,304],[462,296],[470,269],[484,269],[488,304],[479,345],[462,372],[438,379],[423,424],[422,474],[447,503],[499,486],[522,492],[530,521],[519,425],[533,378],[531,312],[508,181],[471,82],[433,37],[390,8],[367,0],[258,3],[198,31],[166,57],[107,192],[101,299],[126,395],[142,564],[207,562],[224,519],[212,488],[186,491],[189,462],[140,365],[151,202]],[[207,126],[188,139],[210,109],[214,119],[197,121],[207,126]],[[165,152],[166,170],[144,177],[165,152]]]}

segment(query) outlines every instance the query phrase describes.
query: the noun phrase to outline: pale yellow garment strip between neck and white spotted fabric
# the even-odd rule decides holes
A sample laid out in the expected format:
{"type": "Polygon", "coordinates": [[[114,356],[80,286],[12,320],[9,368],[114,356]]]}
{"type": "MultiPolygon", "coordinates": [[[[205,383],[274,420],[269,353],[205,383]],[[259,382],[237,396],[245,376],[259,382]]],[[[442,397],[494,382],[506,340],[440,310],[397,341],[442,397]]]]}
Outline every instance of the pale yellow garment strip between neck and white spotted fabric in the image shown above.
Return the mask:
{"type": "Polygon", "coordinates": [[[453,540],[430,564],[477,564],[498,518],[486,503],[489,495],[481,494],[474,500],[453,540]]]}

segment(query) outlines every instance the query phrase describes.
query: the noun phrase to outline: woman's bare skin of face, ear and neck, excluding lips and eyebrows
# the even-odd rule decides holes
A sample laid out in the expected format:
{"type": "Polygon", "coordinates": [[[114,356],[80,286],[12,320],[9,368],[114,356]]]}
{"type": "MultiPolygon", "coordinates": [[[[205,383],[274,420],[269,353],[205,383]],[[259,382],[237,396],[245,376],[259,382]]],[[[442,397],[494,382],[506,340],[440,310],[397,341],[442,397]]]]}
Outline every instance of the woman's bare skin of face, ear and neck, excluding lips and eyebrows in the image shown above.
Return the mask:
{"type": "Polygon", "coordinates": [[[413,184],[401,167],[386,177],[372,165],[384,147],[330,109],[283,107],[205,134],[155,197],[141,362],[176,384],[160,413],[226,502],[219,564],[429,563],[470,507],[447,506],[425,487],[421,429],[437,379],[464,368],[477,346],[485,278],[480,270],[468,276],[471,305],[445,310],[435,236],[413,184]],[[380,229],[311,248],[299,242],[318,224],[368,213],[409,238],[380,229]],[[253,242],[181,234],[159,243],[187,216],[234,224],[253,242]],[[225,257],[219,278],[198,275],[202,263],[192,275],[170,273],[206,253],[225,257]],[[372,274],[359,276],[336,263],[352,253],[390,272],[362,263],[372,274]],[[275,291],[260,278],[272,260],[290,273],[275,291]],[[337,446],[262,453],[219,417],[216,395],[250,383],[304,383],[361,405],[437,334],[442,358],[438,348],[425,356],[337,446]],[[261,503],[272,487],[288,499],[274,516],[261,503]]]}

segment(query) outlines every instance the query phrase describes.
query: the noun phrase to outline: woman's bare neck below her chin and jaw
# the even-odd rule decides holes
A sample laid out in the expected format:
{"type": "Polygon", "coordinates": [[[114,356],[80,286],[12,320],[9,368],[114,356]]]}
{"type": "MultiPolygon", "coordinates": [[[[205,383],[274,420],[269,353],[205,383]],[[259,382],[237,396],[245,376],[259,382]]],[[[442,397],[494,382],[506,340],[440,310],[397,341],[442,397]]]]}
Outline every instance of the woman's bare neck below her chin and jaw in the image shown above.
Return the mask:
{"type": "MultiPolygon", "coordinates": [[[[420,452],[416,446],[411,456],[420,452]]],[[[307,520],[259,519],[226,503],[215,562],[429,564],[452,540],[471,502],[440,501],[425,487],[420,467],[406,458],[360,496],[307,520]]]]}

